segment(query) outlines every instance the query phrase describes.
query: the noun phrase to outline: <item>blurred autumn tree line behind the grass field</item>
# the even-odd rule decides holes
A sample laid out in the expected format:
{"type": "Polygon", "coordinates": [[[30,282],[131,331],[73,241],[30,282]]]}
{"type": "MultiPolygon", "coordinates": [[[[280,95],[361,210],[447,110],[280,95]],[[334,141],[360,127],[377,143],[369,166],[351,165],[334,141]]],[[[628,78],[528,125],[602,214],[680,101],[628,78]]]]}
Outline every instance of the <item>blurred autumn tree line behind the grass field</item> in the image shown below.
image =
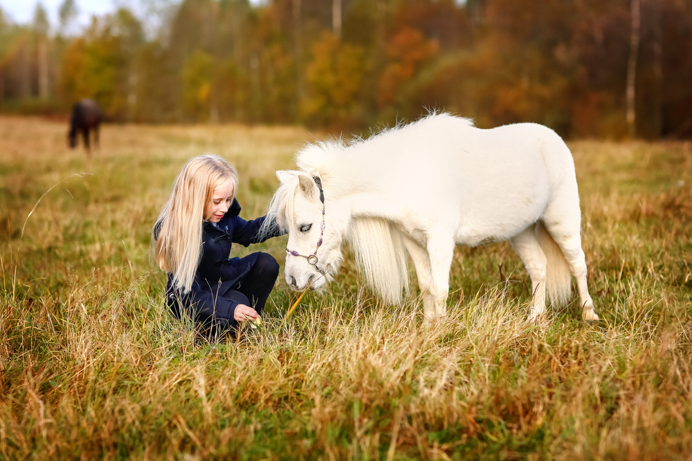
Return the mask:
{"type": "MultiPolygon", "coordinates": [[[[151,4],[151,2],[149,2],[151,4]]],[[[357,131],[429,110],[572,138],[692,137],[692,0],[183,0],[69,32],[0,11],[0,111],[357,131]],[[152,30],[153,29],[153,30],[152,30]]],[[[72,29],[74,26],[72,27],[72,29]]]]}

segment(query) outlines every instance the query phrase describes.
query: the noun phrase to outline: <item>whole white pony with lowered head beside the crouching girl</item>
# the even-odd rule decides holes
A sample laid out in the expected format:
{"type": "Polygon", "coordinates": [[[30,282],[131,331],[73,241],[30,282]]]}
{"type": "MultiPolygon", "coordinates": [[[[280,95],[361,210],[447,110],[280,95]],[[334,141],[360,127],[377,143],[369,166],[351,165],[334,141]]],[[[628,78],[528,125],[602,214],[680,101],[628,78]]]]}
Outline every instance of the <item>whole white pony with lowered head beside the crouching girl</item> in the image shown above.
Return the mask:
{"type": "Polygon", "coordinates": [[[508,240],[531,277],[530,319],[571,294],[598,320],[581,249],[574,161],[551,129],[531,123],[478,129],[448,114],[344,144],[308,144],[299,171],[280,185],[265,223],[289,232],[286,283],[321,288],[336,274],[347,241],[367,283],[385,301],[408,291],[406,253],[417,272],[426,320],[446,314],[455,245],[508,240]]]}

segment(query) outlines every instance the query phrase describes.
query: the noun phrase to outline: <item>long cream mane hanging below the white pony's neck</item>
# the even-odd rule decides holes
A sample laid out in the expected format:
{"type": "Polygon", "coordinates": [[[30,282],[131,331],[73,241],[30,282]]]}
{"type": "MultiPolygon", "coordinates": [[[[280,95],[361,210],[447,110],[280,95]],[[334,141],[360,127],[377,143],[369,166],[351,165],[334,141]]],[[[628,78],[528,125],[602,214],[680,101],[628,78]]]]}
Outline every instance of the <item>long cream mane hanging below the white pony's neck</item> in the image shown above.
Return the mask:
{"type": "Polygon", "coordinates": [[[354,218],[347,241],[367,284],[386,302],[401,304],[402,292],[408,293],[408,271],[399,231],[387,220],[354,218]]]}

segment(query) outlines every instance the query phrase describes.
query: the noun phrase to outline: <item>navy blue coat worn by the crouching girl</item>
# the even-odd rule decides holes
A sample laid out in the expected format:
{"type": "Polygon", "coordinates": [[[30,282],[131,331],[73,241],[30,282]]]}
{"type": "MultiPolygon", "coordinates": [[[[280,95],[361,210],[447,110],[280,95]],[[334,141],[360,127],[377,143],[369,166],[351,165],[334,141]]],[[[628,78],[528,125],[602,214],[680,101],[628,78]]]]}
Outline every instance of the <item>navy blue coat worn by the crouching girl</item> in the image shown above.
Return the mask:
{"type": "Polygon", "coordinates": [[[235,198],[230,209],[217,223],[205,221],[202,227],[202,258],[192,282],[190,292],[183,294],[173,285],[168,274],[166,287],[167,304],[175,317],[181,318],[181,308],[199,323],[214,321],[219,327],[235,326],[233,314],[237,301],[224,297],[228,290],[237,290],[257,261],[259,253],[244,258],[229,258],[233,243],[248,246],[262,243],[267,238],[283,233],[278,226],[272,234],[258,236],[265,216],[246,221],[239,216],[240,205],[235,198]]]}

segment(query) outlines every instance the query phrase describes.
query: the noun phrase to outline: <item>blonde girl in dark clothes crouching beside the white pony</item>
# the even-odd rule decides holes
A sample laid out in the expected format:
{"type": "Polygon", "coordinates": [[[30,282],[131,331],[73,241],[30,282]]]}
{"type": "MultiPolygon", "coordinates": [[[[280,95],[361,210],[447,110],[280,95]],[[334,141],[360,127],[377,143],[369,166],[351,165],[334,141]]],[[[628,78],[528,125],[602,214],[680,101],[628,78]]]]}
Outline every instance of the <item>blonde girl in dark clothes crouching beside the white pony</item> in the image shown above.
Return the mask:
{"type": "Polygon", "coordinates": [[[270,254],[228,257],[233,242],[248,246],[282,234],[275,226],[275,232],[259,236],[264,216],[238,216],[237,187],[238,173],[226,160],[192,158],[152,229],[154,259],[168,272],[168,307],[179,319],[185,312],[210,335],[260,319],[279,274],[270,254]]]}

